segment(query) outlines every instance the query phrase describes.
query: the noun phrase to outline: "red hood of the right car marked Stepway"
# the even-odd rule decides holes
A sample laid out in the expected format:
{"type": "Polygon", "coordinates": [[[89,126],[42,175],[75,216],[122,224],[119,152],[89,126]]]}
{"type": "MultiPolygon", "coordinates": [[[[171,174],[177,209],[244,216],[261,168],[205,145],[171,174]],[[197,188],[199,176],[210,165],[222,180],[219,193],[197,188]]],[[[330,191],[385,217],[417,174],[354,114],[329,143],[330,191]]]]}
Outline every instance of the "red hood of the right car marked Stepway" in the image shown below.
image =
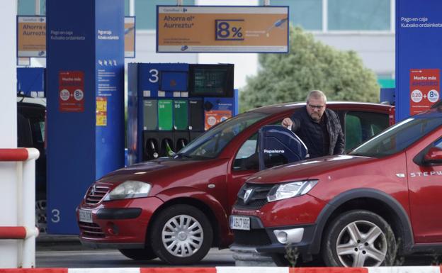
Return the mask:
{"type": "Polygon", "coordinates": [[[331,155],[311,160],[289,163],[271,169],[265,169],[253,174],[246,182],[259,184],[274,184],[317,178],[336,169],[351,168],[361,162],[375,160],[373,157],[358,157],[350,155],[331,155]]]}

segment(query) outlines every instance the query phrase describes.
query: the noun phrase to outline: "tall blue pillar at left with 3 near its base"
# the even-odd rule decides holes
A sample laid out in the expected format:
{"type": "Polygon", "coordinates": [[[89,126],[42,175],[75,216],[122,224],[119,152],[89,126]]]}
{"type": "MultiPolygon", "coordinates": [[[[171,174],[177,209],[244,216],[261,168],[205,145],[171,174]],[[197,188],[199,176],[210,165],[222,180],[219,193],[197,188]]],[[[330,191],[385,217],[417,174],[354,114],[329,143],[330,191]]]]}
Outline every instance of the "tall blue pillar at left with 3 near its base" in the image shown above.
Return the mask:
{"type": "Polygon", "coordinates": [[[47,0],[46,9],[47,231],[77,234],[86,189],[124,165],[124,2],[47,0]]]}

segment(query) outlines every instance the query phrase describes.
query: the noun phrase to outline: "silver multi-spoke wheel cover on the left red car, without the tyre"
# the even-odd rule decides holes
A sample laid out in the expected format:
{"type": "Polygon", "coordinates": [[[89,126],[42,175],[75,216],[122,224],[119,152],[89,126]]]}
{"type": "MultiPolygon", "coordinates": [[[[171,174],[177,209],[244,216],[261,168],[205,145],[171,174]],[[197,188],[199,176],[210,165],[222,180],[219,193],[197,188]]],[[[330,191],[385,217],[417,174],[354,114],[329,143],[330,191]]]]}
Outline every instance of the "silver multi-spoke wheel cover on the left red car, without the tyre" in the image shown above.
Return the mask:
{"type": "Polygon", "coordinates": [[[188,215],[170,218],[162,230],[162,243],[175,257],[190,257],[203,245],[204,233],[201,224],[188,215]]]}

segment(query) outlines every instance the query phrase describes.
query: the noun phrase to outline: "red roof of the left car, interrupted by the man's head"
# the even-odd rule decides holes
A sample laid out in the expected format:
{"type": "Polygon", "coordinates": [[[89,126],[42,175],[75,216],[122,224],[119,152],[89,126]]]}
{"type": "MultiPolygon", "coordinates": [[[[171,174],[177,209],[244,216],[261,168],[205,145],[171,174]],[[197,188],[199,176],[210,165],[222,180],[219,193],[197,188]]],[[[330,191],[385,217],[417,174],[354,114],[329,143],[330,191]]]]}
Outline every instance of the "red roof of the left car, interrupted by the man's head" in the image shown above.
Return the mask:
{"type": "MultiPolygon", "coordinates": [[[[284,111],[293,111],[296,108],[300,108],[302,106],[305,106],[305,102],[287,102],[284,104],[273,104],[269,106],[262,106],[259,108],[254,108],[250,111],[275,114],[275,113],[282,113],[284,111]]],[[[388,113],[388,111],[390,111],[390,108],[394,108],[395,106],[387,104],[375,104],[369,102],[358,102],[358,101],[328,101],[327,107],[331,109],[339,109],[339,108],[367,109],[372,111],[380,111],[388,113]]]]}

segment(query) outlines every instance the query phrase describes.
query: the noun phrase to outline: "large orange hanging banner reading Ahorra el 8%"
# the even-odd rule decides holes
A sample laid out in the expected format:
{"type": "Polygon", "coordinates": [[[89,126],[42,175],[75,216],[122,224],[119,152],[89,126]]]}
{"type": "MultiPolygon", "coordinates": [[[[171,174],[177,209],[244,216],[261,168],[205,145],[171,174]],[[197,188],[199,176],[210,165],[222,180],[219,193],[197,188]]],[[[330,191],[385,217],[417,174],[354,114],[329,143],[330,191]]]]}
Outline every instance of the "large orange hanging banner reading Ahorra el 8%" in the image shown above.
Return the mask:
{"type": "Polygon", "coordinates": [[[288,6],[157,6],[157,52],[288,52],[288,6]]]}

